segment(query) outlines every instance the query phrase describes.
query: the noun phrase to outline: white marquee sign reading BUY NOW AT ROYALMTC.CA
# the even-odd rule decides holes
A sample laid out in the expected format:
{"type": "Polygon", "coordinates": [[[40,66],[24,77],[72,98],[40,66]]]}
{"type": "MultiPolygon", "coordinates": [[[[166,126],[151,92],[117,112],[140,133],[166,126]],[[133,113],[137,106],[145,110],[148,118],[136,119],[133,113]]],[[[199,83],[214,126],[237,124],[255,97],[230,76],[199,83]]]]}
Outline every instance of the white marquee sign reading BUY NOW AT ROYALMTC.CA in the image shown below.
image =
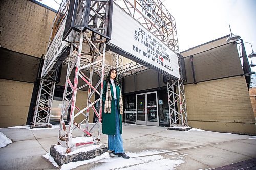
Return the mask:
{"type": "Polygon", "coordinates": [[[164,75],[180,78],[177,54],[115,3],[108,44],[112,46],[112,51],[131,60],[164,75]]]}

